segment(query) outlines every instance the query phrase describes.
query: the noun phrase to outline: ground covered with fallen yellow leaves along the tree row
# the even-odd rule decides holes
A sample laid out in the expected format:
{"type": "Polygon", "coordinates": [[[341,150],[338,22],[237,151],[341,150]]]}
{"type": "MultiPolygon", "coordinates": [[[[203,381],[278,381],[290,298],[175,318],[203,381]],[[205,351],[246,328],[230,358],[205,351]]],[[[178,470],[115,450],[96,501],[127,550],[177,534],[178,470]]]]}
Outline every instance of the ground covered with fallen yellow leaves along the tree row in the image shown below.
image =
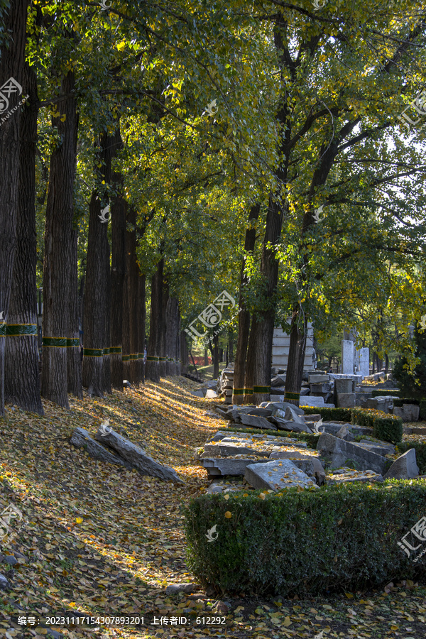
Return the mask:
{"type": "Polygon", "coordinates": [[[23,518],[11,520],[17,537],[1,542],[0,572],[11,589],[0,591],[0,638],[45,637],[46,626],[53,627],[47,617],[77,613],[143,616],[144,625],[55,630],[66,637],[141,639],[313,639],[321,631],[324,638],[425,638],[426,589],[410,581],[383,591],[291,601],[255,601],[247,594],[218,601],[197,588],[166,596],[169,584],[195,581],[185,566],[180,504],[207,487],[206,472],[192,460],[194,448],[224,425],[204,415],[214,400],[195,398],[189,391],[196,387],[173,378],[102,400],[71,399],[70,411],[44,402],[45,417],[7,406],[0,418],[0,501],[2,508],[19,508],[23,518]],[[75,427],[94,435],[107,419],[173,466],[185,485],[94,461],[70,445],[75,427]],[[17,623],[23,615],[40,625],[23,628],[17,623]],[[163,625],[154,623],[160,617],[163,625]],[[176,623],[180,617],[186,626],[176,623]],[[197,617],[226,623],[206,627],[197,617]]]}

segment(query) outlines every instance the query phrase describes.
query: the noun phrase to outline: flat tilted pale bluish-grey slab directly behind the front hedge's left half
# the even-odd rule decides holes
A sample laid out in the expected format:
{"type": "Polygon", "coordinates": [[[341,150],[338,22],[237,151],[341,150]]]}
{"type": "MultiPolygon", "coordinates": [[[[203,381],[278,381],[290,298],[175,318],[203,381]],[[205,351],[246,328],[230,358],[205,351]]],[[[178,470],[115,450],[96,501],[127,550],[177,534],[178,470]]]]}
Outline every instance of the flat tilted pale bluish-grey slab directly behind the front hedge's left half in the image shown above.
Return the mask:
{"type": "Polygon", "coordinates": [[[253,488],[266,488],[273,491],[293,486],[302,486],[303,488],[315,486],[317,488],[315,481],[312,481],[307,474],[298,469],[290,459],[276,459],[268,461],[266,464],[251,464],[246,467],[244,479],[253,488]]]}

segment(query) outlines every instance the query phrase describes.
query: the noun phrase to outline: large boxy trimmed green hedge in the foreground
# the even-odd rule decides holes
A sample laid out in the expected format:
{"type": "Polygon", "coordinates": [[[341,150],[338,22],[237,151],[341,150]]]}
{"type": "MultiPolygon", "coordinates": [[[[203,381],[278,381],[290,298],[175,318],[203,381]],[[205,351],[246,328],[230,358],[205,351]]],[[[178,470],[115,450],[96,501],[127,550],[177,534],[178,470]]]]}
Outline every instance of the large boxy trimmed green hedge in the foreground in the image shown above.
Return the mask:
{"type": "Polygon", "coordinates": [[[422,480],[245,494],[183,507],[188,565],[222,594],[300,596],[426,576],[426,556],[415,563],[397,545],[426,511],[422,480]]]}

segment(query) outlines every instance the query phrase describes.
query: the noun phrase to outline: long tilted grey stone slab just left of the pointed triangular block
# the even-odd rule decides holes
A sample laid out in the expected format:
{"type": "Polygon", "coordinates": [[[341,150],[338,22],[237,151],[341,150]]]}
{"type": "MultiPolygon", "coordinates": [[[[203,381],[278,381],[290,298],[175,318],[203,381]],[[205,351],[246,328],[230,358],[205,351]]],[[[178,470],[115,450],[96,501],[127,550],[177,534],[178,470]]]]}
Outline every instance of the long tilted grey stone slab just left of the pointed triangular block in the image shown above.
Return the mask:
{"type": "Polygon", "coordinates": [[[383,474],[386,466],[386,459],[382,455],[371,452],[353,442],[346,442],[344,439],[329,435],[329,433],[320,435],[317,450],[321,455],[330,458],[332,468],[339,468],[345,462],[347,465],[348,459],[359,466],[357,470],[372,470],[378,474],[383,474]]]}

